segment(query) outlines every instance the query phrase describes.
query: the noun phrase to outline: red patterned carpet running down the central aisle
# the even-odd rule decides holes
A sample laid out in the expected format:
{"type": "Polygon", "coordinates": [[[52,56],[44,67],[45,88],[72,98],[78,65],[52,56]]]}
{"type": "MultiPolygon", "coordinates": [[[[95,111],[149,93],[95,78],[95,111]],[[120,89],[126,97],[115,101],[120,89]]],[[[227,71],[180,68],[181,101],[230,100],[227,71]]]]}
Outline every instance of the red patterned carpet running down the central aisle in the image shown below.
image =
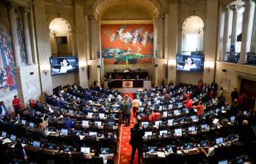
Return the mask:
{"type": "MultiPolygon", "coordinates": [[[[134,94],[128,94],[131,99],[134,98],[134,94]]],[[[131,145],[129,144],[131,138],[131,128],[134,127],[134,116],[131,110],[131,124],[130,127],[122,125],[120,130],[120,151],[119,151],[119,164],[127,164],[131,160],[131,145]]],[[[138,163],[138,153],[136,152],[134,157],[134,164],[138,163]]]]}

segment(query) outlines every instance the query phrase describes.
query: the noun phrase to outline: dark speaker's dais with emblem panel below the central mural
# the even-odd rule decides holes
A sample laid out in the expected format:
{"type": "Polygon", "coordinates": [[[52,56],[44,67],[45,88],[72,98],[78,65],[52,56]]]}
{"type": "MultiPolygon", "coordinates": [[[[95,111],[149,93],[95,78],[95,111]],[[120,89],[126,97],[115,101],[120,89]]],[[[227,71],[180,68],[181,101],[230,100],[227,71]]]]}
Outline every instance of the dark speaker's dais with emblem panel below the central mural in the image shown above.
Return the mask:
{"type": "Polygon", "coordinates": [[[139,89],[150,89],[151,81],[148,72],[108,72],[104,86],[118,89],[120,92],[136,92],[139,89]]]}

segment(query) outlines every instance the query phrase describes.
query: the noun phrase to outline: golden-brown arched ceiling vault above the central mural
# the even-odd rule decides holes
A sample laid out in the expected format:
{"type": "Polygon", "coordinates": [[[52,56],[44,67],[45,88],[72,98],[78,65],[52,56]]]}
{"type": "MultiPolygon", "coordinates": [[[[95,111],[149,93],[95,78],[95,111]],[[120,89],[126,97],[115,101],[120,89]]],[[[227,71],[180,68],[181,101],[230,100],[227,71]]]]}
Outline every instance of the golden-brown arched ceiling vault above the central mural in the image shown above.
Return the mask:
{"type": "Polygon", "coordinates": [[[97,11],[102,20],[148,20],[167,11],[168,0],[87,0],[87,12],[97,11]]]}

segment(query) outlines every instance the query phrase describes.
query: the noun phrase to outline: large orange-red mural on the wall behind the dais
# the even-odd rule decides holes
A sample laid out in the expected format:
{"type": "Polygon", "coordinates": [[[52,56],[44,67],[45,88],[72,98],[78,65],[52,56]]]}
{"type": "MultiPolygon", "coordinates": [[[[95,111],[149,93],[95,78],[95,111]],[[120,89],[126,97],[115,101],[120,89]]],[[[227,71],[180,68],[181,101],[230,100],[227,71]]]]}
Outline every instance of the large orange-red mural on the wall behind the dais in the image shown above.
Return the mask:
{"type": "Polygon", "coordinates": [[[152,64],[153,24],[100,26],[104,64],[152,64]]]}

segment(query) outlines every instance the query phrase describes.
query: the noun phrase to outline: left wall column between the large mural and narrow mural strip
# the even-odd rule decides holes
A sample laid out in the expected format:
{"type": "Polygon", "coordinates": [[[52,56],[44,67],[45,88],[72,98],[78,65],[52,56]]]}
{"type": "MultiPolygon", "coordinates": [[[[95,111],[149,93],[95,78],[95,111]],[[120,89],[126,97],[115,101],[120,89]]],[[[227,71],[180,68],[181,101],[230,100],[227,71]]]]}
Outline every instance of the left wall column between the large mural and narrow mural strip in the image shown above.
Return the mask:
{"type": "Polygon", "coordinates": [[[21,51],[18,43],[18,31],[17,31],[17,14],[15,7],[12,6],[9,10],[10,27],[12,34],[12,48],[14,52],[15,67],[21,67],[21,51]]]}

